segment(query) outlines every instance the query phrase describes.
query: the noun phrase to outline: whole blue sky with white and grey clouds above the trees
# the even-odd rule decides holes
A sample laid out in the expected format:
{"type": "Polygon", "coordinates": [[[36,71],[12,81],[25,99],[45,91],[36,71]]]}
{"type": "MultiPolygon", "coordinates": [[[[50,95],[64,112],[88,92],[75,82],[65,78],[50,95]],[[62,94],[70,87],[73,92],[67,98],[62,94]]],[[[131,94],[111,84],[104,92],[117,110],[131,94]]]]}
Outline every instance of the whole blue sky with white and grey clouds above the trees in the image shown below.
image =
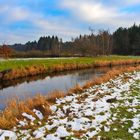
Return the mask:
{"type": "Polygon", "coordinates": [[[0,44],[57,35],[63,41],[89,27],[115,31],[140,24],[140,0],[0,0],[0,44]]]}

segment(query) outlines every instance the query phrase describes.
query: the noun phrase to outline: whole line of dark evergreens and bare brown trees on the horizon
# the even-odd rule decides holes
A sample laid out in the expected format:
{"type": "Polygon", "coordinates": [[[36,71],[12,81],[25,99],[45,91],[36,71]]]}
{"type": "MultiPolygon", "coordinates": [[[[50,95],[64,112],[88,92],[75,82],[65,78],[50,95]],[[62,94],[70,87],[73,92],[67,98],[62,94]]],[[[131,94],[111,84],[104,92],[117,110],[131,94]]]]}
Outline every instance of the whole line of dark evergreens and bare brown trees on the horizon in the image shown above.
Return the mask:
{"type": "Polygon", "coordinates": [[[9,48],[16,52],[40,52],[40,55],[46,53],[49,56],[140,55],[140,26],[120,27],[112,34],[109,30],[91,31],[89,35],[79,35],[67,42],[57,36],[45,36],[38,41],[10,45],[9,48]]]}

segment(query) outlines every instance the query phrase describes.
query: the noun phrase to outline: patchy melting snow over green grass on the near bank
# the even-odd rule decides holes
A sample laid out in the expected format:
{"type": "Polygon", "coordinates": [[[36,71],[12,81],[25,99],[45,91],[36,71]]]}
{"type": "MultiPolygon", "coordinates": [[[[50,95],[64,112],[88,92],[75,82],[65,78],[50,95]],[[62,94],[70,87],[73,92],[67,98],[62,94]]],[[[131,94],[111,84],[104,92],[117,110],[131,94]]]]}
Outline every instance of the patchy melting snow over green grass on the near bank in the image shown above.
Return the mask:
{"type": "MultiPolygon", "coordinates": [[[[46,122],[38,124],[34,130],[24,131],[26,121],[20,121],[20,132],[11,132],[18,137],[31,139],[60,140],[140,138],[140,72],[126,73],[101,85],[95,85],[81,94],[73,94],[50,106],[53,114],[46,122]],[[42,126],[42,124],[44,124],[42,126]]],[[[33,112],[43,121],[39,110],[33,112]]],[[[22,114],[31,122],[36,118],[27,113],[22,114]]],[[[1,136],[0,136],[1,138],[1,136]]]]}

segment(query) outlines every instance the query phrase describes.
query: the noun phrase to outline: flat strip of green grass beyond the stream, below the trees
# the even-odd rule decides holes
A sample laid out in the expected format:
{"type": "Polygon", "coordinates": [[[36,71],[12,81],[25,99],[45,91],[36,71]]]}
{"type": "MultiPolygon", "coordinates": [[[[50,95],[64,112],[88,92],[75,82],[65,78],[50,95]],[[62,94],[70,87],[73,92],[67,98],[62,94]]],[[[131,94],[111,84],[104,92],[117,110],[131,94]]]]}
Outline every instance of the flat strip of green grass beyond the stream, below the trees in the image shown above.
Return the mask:
{"type": "Polygon", "coordinates": [[[116,61],[116,60],[140,60],[140,57],[132,56],[102,56],[102,57],[81,57],[64,59],[27,59],[27,60],[2,60],[0,61],[0,71],[5,69],[24,68],[27,66],[44,65],[46,68],[58,64],[92,64],[97,61],[116,61]]]}

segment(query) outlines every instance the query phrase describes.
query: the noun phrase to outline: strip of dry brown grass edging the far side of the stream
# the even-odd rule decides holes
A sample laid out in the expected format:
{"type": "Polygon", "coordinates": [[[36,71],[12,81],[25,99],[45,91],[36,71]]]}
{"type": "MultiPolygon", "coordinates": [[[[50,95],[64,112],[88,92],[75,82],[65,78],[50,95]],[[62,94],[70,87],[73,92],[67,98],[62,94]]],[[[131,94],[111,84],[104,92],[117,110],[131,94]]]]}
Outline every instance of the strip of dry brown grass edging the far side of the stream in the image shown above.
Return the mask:
{"type": "Polygon", "coordinates": [[[28,66],[25,68],[12,69],[10,72],[6,73],[2,80],[12,80],[17,78],[22,78],[26,76],[33,76],[43,73],[53,73],[62,72],[70,70],[79,70],[93,67],[104,67],[104,66],[120,66],[120,65],[133,65],[139,64],[140,60],[116,60],[116,61],[96,61],[94,63],[82,64],[57,64],[52,67],[46,68],[44,65],[40,66],[28,66]]]}

